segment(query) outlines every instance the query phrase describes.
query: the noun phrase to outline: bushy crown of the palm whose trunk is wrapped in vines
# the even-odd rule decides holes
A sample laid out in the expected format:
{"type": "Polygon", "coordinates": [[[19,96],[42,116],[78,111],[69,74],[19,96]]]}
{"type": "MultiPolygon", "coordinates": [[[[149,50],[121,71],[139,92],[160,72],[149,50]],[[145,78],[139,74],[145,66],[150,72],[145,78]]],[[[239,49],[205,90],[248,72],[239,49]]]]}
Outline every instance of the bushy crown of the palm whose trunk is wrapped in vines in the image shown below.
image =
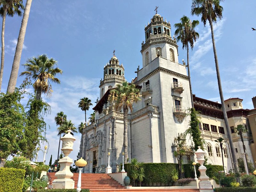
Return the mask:
{"type": "Polygon", "coordinates": [[[60,84],[60,80],[55,76],[62,74],[62,70],[58,67],[57,61],[53,58],[49,59],[46,54],[38,55],[38,57],[32,57],[27,60],[27,63],[23,64],[26,71],[20,73],[20,76],[26,76],[25,82],[31,78],[35,80],[33,87],[36,91],[36,99],[40,100],[42,93],[51,93],[53,83],[60,84]]]}

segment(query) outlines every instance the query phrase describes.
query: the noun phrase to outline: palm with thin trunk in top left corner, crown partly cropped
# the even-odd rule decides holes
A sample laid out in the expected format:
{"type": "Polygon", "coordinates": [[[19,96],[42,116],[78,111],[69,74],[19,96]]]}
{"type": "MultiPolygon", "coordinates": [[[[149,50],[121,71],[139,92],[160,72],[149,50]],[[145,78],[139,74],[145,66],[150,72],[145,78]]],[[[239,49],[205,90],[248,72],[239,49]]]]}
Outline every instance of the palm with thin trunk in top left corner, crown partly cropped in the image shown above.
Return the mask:
{"type": "Polygon", "coordinates": [[[0,92],[3,81],[3,73],[4,73],[4,30],[5,30],[5,19],[6,15],[9,17],[13,17],[15,14],[21,16],[22,11],[24,10],[24,5],[22,4],[22,0],[1,0],[1,8],[0,15],[3,17],[2,24],[2,56],[1,56],[1,69],[0,69],[0,92]]]}

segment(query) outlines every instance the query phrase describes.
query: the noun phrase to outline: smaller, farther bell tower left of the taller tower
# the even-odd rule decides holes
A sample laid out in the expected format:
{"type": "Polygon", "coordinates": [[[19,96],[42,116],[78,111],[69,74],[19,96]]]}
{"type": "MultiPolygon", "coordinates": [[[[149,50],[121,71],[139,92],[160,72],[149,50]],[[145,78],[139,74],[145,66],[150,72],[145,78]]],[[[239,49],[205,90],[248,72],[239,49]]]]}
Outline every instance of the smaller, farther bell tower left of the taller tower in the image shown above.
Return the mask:
{"type": "Polygon", "coordinates": [[[100,98],[107,92],[108,89],[116,87],[117,84],[124,82],[124,66],[116,58],[115,50],[113,57],[104,66],[103,80],[100,80],[100,98]]]}

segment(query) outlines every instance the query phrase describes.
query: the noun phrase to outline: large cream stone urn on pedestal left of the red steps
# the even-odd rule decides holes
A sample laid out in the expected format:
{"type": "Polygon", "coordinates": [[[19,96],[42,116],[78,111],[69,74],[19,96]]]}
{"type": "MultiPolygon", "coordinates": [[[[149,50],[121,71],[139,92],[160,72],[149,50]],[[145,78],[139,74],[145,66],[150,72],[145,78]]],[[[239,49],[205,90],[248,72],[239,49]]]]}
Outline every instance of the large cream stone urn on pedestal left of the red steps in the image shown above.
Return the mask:
{"type": "Polygon", "coordinates": [[[60,171],[55,173],[57,179],[52,181],[53,189],[73,189],[75,187],[75,181],[70,179],[73,177],[73,173],[69,169],[69,166],[73,163],[73,159],[68,157],[68,155],[73,151],[73,144],[76,139],[70,132],[71,130],[68,130],[68,133],[60,138],[62,140],[61,151],[63,151],[65,157],[59,160],[60,171]]]}

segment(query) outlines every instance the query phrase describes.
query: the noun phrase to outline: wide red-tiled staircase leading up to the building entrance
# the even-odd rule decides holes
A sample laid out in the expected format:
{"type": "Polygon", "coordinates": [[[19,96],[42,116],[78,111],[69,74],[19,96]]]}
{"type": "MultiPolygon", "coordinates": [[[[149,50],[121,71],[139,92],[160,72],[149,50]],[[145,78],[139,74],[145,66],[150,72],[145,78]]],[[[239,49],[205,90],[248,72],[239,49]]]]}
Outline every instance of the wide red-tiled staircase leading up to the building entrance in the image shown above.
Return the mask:
{"type": "MultiPolygon", "coordinates": [[[[54,172],[47,173],[49,178],[49,185],[52,185],[52,181],[57,179],[54,172]]],[[[74,173],[72,178],[75,181],[75,188],[77,187],[78,173],[74,173]]],[[[81,188],[90,189],[90,191],[103,192],[199,192],[199,189],[126,189],[116,180],[112,179],[108,174],[104,173],[82,173],[81,188]]]]}

